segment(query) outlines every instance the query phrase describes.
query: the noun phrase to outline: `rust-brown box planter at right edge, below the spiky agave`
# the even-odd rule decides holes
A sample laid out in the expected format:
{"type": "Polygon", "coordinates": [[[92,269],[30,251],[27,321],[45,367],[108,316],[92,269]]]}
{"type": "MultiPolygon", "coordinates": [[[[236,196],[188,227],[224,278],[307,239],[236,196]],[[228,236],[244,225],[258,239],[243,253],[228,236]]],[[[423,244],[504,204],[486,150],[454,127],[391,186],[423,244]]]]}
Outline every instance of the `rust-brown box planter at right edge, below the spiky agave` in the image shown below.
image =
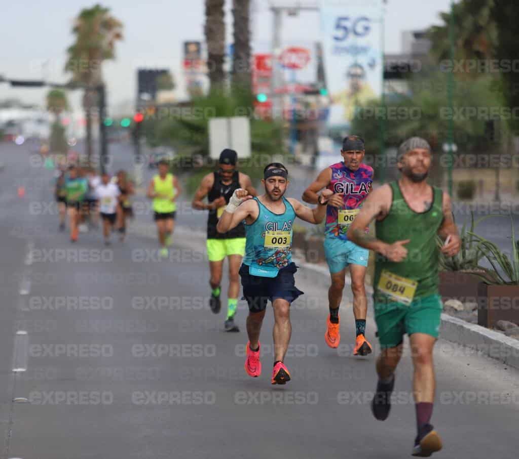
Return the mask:
{"type": "Polygon", "coordinates": [[[519,285],[488,285],[480,282],[477,324],[494,328],[498,320],[519,324],[519,285]]]}

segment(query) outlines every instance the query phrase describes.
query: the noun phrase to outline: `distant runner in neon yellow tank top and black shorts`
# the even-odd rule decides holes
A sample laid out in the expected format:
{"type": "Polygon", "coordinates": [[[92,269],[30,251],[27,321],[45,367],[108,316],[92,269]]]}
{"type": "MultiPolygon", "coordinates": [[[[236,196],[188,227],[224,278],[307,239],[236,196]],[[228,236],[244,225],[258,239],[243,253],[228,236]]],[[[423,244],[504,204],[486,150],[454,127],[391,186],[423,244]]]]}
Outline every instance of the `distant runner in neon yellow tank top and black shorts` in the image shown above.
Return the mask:
{"type": "Polygon", "coordinates": [[[149,182],[147,196],[153,199],[154,220],[160,244],[160,256],[167,258],[173,235],[176,199],[181,193],[179,181],[169,172],[167,161],[159,162],[159,173],[149,182]]]}

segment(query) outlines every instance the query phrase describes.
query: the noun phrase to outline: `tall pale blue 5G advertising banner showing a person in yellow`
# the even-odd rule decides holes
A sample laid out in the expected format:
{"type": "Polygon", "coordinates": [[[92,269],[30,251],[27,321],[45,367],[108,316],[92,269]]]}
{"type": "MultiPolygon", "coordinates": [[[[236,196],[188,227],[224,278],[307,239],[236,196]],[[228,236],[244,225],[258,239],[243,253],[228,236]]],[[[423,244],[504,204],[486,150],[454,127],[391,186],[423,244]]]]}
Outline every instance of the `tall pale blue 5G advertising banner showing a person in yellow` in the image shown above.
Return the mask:
{"type": "Polygon", "coordinates": [[[357,106],[380,97],[382,0],[321,0],[329,125],[350,125],[357,106]]]}

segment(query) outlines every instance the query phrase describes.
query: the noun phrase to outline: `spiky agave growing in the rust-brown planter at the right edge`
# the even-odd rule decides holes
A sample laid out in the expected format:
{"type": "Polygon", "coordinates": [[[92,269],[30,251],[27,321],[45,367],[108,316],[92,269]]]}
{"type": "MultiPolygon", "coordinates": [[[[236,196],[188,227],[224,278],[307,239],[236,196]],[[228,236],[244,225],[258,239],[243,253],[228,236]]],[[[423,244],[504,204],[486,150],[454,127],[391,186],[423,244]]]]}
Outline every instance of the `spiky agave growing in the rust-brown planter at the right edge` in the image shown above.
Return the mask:
{"type": "MultiPolygon", "coordinates": [[[[501,216],[495,216],[501,217],[501,216]]],[[[517,250],[517,242],[514,234],[514,223],[510,214],[510,226],[512,233],[512,259],[507,254],[501,252],[494,242],[478,236],[472,232],[468,234],[477,241],[477,248],[484,252],[485,258],[492,266],[492,269],[481,268],[485,271],[486,276],[479,275],[487,284],[502,285],[519,285],[519,251],[517,250]]]]}

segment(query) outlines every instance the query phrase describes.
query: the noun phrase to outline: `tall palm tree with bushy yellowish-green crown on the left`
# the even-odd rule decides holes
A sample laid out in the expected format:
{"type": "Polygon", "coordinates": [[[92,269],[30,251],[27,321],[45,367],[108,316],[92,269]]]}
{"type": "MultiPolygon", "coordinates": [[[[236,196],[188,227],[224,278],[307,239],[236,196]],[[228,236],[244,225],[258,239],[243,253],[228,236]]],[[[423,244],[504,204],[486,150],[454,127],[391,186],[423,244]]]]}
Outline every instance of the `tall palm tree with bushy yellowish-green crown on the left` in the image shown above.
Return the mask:
{"type": "Polygon", "coordinates": [[[72,83],[86,86],[83,97],[85,109],[87,158],[92,157],[92,109],[97,105],[95,90],[103,84],[101,64],[115,58],[115,42],[122,39],[122,23],[99,4],[81,10],[72,32],[74,44],[67,49],[65,70],[72,73],[72,83]]]}

